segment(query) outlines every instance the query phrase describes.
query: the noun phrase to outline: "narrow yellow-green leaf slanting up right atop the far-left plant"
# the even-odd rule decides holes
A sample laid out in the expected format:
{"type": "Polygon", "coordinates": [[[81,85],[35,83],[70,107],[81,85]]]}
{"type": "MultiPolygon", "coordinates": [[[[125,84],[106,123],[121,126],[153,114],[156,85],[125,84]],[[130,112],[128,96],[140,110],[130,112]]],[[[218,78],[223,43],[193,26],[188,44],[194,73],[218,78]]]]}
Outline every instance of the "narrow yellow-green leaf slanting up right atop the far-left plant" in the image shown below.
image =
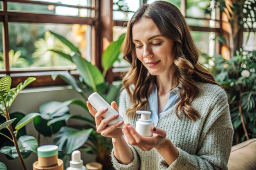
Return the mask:
{"type": "Polygon", "coordinates": [[[7,108],[11,107],[11,104],[13,103],[14,99],[17,97],[17,95],[22,91],[27,85],[29,85],[31,82],[34,82],[36,80],[35,77],[28,77],[25,82],[22,84],[18,84],[15,88],[12,88],[8,95],[6,96],[6,105],[7,108]]]}

